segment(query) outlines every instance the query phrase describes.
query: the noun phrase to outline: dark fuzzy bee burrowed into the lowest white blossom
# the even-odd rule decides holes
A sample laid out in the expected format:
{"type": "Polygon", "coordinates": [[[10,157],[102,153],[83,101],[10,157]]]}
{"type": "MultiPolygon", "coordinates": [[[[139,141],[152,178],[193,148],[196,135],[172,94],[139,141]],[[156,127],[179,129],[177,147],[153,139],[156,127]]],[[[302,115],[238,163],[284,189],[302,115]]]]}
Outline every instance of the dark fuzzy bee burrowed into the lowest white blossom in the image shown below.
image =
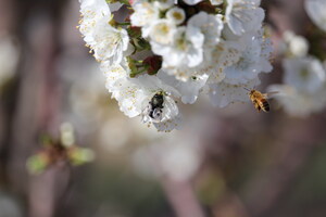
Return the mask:
{"type": "Polygon", "coordinates": [[[163,113],[163,103],[164,103],[164,93],[156,92],[152,99],[150,100],[149,104],[142,111],[142,122],[149,122],[150,117],[153,122],[161,122],[162,113],[163,113]]]}

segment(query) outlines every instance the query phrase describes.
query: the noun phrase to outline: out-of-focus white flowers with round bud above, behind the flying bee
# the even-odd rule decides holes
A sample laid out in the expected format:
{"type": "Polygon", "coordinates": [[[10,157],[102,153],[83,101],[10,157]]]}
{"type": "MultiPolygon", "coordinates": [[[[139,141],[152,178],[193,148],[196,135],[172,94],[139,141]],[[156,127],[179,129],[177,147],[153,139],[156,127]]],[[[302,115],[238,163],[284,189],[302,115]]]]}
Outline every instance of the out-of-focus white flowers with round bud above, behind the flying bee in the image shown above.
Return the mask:
{"type": "Polygon", "coordinates": [[[272,85],[278,91],[276,100],[292,116],[308,116],[326,107],[326,64],[309,55],[308,40],[293,33],[284,35],[287,50],[283,60],[283,85],[272,85]]]}

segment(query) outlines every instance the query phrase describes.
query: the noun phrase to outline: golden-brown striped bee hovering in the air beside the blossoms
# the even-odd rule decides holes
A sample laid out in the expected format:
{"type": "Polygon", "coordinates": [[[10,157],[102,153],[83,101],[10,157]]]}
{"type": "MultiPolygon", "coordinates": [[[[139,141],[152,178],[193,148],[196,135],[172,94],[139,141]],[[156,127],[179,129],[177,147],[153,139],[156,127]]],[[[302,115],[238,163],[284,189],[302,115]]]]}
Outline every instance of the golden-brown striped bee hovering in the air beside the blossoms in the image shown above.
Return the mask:
{"type": "Polygon", "coordinates": [[[261,112],[264,111],[264,112],[269,112],[269,103],[267,101],[268,99],[268,95],[272,95],[272,94],[275,94],[277,93],[276,91],[275,92],[267,92],[267,93],[261,93],[260,91],[255,90],[255,89],[247,89],[244,88],[246,90],[249,91],[249,98],[252,102],[252,104],[254,105],[254,107],[261,112]]]}

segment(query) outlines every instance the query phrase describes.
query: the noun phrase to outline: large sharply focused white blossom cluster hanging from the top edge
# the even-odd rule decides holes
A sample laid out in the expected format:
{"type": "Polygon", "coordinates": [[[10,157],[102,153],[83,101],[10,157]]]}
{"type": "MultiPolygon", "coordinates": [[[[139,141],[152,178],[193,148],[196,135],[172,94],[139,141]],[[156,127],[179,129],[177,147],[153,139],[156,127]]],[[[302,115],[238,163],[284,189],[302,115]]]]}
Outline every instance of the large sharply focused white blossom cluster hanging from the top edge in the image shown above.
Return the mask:
{"type": "Polygon", "coordinates": [[[179,126],[178,103],[199,93],[226,106],[269,73],[260,0],[79,0],[80,33],[129,117],[159,131],[179,126]]]}

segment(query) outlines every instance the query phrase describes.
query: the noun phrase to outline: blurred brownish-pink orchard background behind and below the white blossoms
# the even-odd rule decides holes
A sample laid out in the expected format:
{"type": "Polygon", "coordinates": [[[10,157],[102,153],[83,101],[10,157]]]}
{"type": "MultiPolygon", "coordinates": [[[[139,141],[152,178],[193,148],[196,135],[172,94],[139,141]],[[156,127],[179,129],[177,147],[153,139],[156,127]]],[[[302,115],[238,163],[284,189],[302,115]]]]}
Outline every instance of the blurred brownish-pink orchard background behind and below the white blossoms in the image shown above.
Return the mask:
{"type": "MultiPolygon", "coordinates": [[[[286,30],[318,37],[312,53],[326,35],[302,0],[262,4],[275,46],[263,91],[281,82],[286,30]]],[[[118,111],[78,20],[77,0],[0,0],[0,217],[326,216],[325,111],[200,99],[183,130],[159,133],[118,111]]]]}

